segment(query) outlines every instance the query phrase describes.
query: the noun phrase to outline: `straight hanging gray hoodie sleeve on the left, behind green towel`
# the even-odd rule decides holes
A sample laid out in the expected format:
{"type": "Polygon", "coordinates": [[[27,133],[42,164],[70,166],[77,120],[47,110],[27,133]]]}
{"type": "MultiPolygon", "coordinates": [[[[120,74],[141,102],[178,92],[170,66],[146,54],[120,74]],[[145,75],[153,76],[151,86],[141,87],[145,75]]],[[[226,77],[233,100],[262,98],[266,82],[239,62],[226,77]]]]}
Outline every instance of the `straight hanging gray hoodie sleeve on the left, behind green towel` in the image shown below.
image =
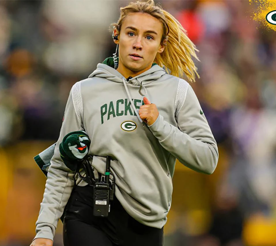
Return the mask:
{"type": "MultiPolygon", "coordinates": [[[[43,200],[41,202],[39,216],[36,222],[36,238],[54,238],[58,219],[63,214],[63,210],[71,195],[74,185],[74,173],[68,169],[59,153],[59,144],[64,136],[69,132],[83,130],[81,117],[76,113],[76,105],[80,104],[74,99],[74,91],[79,88],[76,83],[69,94],[65,107],[64,120],[61,125],[61,131],[56,142],[54,155],[50,161],[43,200]],[[73,94],[73,97],[72,97],[73,94]],[[75,107],[74,107],[75,106],[75,107]]],[[[80,90],[80,88],[79,88],[80,90]]]]}

